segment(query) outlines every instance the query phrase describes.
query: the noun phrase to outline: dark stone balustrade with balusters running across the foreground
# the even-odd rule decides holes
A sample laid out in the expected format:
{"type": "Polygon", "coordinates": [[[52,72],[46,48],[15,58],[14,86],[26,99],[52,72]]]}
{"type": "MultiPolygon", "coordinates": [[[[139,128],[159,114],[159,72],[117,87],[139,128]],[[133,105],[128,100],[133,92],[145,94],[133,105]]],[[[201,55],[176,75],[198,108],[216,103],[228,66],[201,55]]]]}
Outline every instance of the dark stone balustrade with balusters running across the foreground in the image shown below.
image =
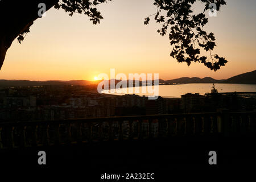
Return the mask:
{"type": "Polygon", "coordinates": [[[0,150],[204,135],[255,135],[256,112],[137,115],[0,123],[0,150]]]}

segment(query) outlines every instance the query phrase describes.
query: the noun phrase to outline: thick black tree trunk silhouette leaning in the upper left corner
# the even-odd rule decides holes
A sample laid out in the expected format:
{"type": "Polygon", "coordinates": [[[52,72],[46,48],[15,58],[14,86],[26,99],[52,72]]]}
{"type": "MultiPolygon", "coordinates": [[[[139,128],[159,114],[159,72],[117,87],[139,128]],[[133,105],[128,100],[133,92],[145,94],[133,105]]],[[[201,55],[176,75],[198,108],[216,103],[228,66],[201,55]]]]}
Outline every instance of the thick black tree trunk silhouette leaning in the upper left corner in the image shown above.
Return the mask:
{"type": "Polygon", "coordinates": [[[7,49],[17,36],[29,28],[38,16],[39,3],[46,4],[46,10],[51,9],[58,0],[33,1],[0,1],[0,69],[5,60],[7,49]]]}

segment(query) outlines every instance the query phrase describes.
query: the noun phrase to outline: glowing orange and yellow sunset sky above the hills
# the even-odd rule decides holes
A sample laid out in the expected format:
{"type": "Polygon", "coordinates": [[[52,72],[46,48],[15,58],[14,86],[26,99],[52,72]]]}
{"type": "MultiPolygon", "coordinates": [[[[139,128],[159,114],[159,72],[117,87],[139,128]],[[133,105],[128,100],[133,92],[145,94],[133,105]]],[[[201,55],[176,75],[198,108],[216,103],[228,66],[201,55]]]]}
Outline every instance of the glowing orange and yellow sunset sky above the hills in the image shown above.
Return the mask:
{"type": "MultiPolygon", "coordinates": [[[[93,80],[100,73],[159,73],[167,80],[179,77],[229,78],[256,69],[256,1],[226,0],[209,18],[205,30],[217,38],[214,53],[229,63],[213,72],[203,64],[177,63],[170,57],[168,36],[152,18],[152,0],[113,0],[98,6],[104,19],[93,25],[85,15],[69,16],[51,9],[37,19],[19,44],[7,51],[0,79],[93,80]]],[[[200,7],[200,6],[198,6],[200,7]]]]}

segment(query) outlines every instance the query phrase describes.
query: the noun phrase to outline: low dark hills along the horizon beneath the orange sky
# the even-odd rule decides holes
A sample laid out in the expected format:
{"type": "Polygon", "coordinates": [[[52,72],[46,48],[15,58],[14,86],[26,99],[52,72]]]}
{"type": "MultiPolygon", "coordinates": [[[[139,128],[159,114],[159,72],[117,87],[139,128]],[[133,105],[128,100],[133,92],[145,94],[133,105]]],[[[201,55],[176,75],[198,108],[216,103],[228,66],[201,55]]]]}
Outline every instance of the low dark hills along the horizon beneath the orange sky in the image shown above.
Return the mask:
{"type": "MultiPolygon", "coordinates": [[[[42,85],[90,85],[96,84],[95,81],[88,80],[69,80],[69,81],[59,81],[59,80],[49,80],[49,81],[30,81],[30,80],[0,80],[1,87],[7,86],[42,86],[42,85]]],[[[159,79],[159,83],[225,83],[225,84],[256,84],[256,70],[252,72],[243,73],[241,75],[233,76],[226,80],[215,80],[211,77],[181,77],[173,80],[162,80],[159,79]]]]}

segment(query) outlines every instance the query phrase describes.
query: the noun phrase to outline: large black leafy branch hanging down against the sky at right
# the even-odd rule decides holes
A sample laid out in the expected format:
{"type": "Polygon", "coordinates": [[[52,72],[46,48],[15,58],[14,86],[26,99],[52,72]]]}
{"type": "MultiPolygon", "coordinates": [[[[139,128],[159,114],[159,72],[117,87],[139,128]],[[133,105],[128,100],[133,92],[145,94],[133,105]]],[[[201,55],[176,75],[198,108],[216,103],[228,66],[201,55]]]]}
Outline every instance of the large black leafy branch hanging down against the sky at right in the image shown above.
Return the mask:
{"type": "MultiPolygon", "coordinates": [[[[200,0],[205,5],[206,10],[212,10],[210,3],[216,4],[216,11],[220,10],[222,5],[226,5],[224,0],[200,0]]],[[[171,56],[180,62],[186,62],[191,65],[192,61],[203,63],[211,70],[217,71],[228,61],[217,54],[213,55],[212,50],[216,46],[215,37],[212,32],[207,34],[203,30],[208,18],[205,14],[192,14],[192,5],[196,0],[155,0],[157,7],[155,21],[162,23],[162,28],[158,30],[159,34],[164,36],[170,28],[169,38],[171,40],[171,56]],[[166,15],[162,15],[166,14],[166,15]],[[206,56],[200,56],[201,49],[209,52],[209,59],[206,56]]],[[[152,15],[151,15],[152,16],[152,15]]],[[[148,24],[150,17],[145,18],[144,24],[148,24]]]]}

